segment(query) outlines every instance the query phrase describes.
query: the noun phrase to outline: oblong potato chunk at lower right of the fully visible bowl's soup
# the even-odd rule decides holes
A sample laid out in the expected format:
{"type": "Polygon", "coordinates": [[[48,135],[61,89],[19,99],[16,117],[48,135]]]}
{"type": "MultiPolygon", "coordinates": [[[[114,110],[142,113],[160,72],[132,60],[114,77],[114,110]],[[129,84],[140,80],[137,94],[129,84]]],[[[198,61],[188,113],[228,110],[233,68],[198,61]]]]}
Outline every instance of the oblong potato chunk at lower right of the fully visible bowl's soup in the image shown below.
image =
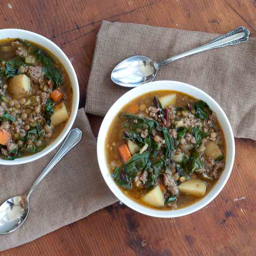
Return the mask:
{"type": "Polygon", "coordinates": [[[178,185],[178,189],[183,194],[203,197],[206,193],[206,184],[199,179],[188,180],[178,185]]]}

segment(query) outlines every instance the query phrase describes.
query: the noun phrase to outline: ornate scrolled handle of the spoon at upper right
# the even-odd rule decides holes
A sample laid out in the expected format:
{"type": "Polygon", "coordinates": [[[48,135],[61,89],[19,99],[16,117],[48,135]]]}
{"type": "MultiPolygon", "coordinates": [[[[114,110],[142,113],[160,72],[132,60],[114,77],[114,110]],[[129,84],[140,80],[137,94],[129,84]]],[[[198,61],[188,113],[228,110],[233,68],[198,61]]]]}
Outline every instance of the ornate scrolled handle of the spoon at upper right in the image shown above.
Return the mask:
{"type": "Polygon", "coordinates": [[[159,63],[159,68],[161,68],[163,65],[170,63],[174,60],[178,60],[180,58],[183,58],[198,52],[203,52],[209,49],[220,48],[228,45],[236,45],[242,42],[246,42],[248,40],[249,34],[250,34],[250,31],[248,29],[245,29],[245,27],[238,27],[237,29],[230,31],[227,34],[216,38],[215,40],[209,42],[208,44],[189,50],[188,52],[177,54],[173,57],[170,57],[169,59],[165,59],[161,61],[159,63]]]}

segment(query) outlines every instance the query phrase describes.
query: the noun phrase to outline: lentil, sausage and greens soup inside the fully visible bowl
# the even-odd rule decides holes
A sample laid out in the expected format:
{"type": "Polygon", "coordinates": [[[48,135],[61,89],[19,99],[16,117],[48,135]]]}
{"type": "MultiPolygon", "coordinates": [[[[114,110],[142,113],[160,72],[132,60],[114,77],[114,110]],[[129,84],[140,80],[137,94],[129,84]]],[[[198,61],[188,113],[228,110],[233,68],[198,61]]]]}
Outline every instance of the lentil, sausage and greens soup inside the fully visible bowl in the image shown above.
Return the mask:
{"type": "Polygon", "coordinates": [[[204,197],[225,168],[225,139],[206,102],[177,91],[143,94],[114,118],[105,141],[113,180],[158,210],[204,197]]]}

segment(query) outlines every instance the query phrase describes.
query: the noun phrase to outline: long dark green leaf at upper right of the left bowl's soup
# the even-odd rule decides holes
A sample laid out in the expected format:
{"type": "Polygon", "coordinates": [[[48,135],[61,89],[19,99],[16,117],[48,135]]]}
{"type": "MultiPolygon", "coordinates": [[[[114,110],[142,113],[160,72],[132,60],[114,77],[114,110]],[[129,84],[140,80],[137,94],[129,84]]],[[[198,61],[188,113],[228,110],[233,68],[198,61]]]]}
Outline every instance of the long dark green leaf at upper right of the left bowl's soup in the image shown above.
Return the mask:
{"type": "Polygon", "coordinates": [[[63,76],[62,73],[55,67],[54,60],[48,56],[42,49],[35,49],[32,54],[37,56],[38,61],[41,61],[43,64],[42,71],[49,78],[54,87],[59,88],[63,83],[63,76]]]}

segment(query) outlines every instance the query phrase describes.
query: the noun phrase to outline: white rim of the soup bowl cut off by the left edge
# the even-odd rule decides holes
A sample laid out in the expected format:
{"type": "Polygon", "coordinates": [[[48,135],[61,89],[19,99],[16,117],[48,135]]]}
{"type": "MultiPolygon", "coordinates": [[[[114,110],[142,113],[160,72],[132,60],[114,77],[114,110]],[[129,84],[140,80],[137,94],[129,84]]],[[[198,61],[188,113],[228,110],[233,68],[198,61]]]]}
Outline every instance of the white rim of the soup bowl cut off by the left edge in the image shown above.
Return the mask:
{"type": "MultiPolygon", "coordinates": [[[[48,49],[51,53],[54,54],[54,56],[56,56],[58,59],[60,59],[61,57],[64,58],[64,60],[66,61],[65,69],[67,70],[67,66],[69,66],[69,68],[70,68],[70,72],[68,72],[68,71],[67,72],[69,75],[69,79],[71,80],[71,85],[72,85],[72,90],[73,90],[73,99],[72,99],[71,115],[69,117],[69,120],[68,120],[67,124],[65,125],[65,127],[63,128],[63,131],[61,132],[61,134],[53,141],[53,143],[51,143],[44,150],[42,150],[36,154],[29,155],[29,156],[22,157],[22,158],[17,158],[13,161],[4,160],[4,159],[0,158],[0,165],[20,165],[23,163],[29,163],[29,162],[35,161],[41,157],[44,157],[45,155],[47,155],[48,153],[53,151],[64,140],[64,138],[67,136],[69,130],[72,128],[72,125],[74,124],[74,121],[76,118],[76,114],[78,112],[78,106],[79,106],[78,78],[76,76],[76,72],[75,72],[75,69],[74,69],[72,63],[68,59],[67,55],[63,52],[63,50],[61,50],[60,47],[58,45],[56,45],[54,42],[52,42],[50,39],[44,37],[43,35],[34,33],[32,31],[23,30],[23,29],[0,29],[0,34],[10,33],[10,32],[15,32],[15,33],[20,33],[20,34],[17,37],[8,37],[8,35],[7,35],[6,37],[3,37],[2,39],[19,38],[19,37],[23,38],[23,39],[27,39],[26,35],[30,35],[35,38],[35,41],[33,41],[33,40],[29,40],[29,41],[35,42],[35,44],[42,45],[46,49],[48,49],[48,47],[46,47],[45,45],[49,44],[52,48],[54,48],[56,50],[57,54],[59,54],[59,56],[57,56],[56,53],[53,53],[52,50],[48,49]],[[21,34],[23,34],[23,35],[21,36],[21,34]],[[38,41],[40,40],[40,42],[36,42],[37,40],[38,41]],[[74,83],[72,83],[72,79],[74,79],[74,83]]],[[[61,63],[63,64],[63,61],[61,61],[61,63]]]]}

